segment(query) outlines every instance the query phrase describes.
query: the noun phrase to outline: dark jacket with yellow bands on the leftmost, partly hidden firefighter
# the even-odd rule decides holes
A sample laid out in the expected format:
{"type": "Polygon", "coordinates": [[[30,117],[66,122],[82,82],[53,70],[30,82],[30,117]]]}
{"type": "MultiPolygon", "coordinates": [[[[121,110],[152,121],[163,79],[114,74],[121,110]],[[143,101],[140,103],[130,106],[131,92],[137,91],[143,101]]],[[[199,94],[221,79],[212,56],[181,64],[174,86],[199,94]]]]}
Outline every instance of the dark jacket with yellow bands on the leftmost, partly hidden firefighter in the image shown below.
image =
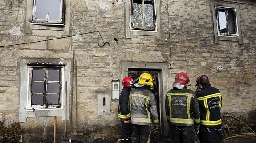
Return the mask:
{"type": "Polygon", "coordinates": [[[124,87],[119,96],[118,118],[121,120],[130,120],[128,101],[131,89],[124,87]]]}

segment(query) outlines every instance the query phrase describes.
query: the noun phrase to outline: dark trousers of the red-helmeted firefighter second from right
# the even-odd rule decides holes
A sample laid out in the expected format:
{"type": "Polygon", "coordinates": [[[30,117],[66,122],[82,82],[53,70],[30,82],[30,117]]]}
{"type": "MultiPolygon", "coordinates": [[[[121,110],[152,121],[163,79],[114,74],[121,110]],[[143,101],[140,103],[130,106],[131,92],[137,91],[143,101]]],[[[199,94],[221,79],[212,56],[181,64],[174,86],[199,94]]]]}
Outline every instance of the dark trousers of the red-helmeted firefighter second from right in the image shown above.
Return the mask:
{"type": "Polygon", "coordinates": [[[171,126],[171,143],[195,143],[195,134],[193,132],[193,126],[182,127],[171,126]]]}

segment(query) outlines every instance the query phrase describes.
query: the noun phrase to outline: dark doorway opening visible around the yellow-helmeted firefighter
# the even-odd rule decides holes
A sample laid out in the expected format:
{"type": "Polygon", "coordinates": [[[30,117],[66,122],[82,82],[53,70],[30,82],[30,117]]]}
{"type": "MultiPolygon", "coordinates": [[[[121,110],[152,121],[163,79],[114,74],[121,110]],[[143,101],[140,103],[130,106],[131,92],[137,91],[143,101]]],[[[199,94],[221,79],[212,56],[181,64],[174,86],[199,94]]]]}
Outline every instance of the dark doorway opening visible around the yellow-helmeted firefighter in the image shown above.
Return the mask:
{"type": "Polygon", "coordinates": [[[162,134],[162,115],[161,115],[161,97],[159,97],[159,71],[161,69],[139,69],[139,68],[128,68],[128,76],[131,77],[135,83],[138,82],[138,78],[142,73],[149,73],[152,75],[154,81],[154,88],[152,90],[152,93],[155,96],[156,103],[157,103],[157,112],[158,112],[158,120],[160,121],[160,129],[161,129],[161,134],[162,134]]]}

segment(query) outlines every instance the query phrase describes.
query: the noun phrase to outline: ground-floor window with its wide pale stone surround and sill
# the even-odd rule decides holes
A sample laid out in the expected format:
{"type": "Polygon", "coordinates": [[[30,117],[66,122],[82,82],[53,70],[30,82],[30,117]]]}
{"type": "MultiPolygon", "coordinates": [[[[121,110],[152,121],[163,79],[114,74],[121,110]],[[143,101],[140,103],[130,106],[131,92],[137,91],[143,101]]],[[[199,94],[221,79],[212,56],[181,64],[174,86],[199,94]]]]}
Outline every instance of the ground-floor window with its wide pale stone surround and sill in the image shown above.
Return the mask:
{"type": "Polygon", "coordinates": [[[28,117],[69,119],[70,59],[20,59],[19,121],[28,117]]]}

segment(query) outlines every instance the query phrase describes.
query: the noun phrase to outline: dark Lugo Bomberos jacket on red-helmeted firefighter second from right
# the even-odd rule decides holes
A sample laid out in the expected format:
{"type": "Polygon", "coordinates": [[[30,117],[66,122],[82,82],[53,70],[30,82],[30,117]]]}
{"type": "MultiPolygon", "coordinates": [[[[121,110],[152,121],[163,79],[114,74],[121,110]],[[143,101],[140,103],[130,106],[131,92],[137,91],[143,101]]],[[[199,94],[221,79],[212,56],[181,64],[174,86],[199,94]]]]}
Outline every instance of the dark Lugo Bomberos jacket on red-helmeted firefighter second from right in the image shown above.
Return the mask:
{"type": "Polygon", "coordinates": [[[165,110],[167,121],[175,126],[199,126],[200,113],[195,92],[186,87],[167,92],[165,110]]]}

